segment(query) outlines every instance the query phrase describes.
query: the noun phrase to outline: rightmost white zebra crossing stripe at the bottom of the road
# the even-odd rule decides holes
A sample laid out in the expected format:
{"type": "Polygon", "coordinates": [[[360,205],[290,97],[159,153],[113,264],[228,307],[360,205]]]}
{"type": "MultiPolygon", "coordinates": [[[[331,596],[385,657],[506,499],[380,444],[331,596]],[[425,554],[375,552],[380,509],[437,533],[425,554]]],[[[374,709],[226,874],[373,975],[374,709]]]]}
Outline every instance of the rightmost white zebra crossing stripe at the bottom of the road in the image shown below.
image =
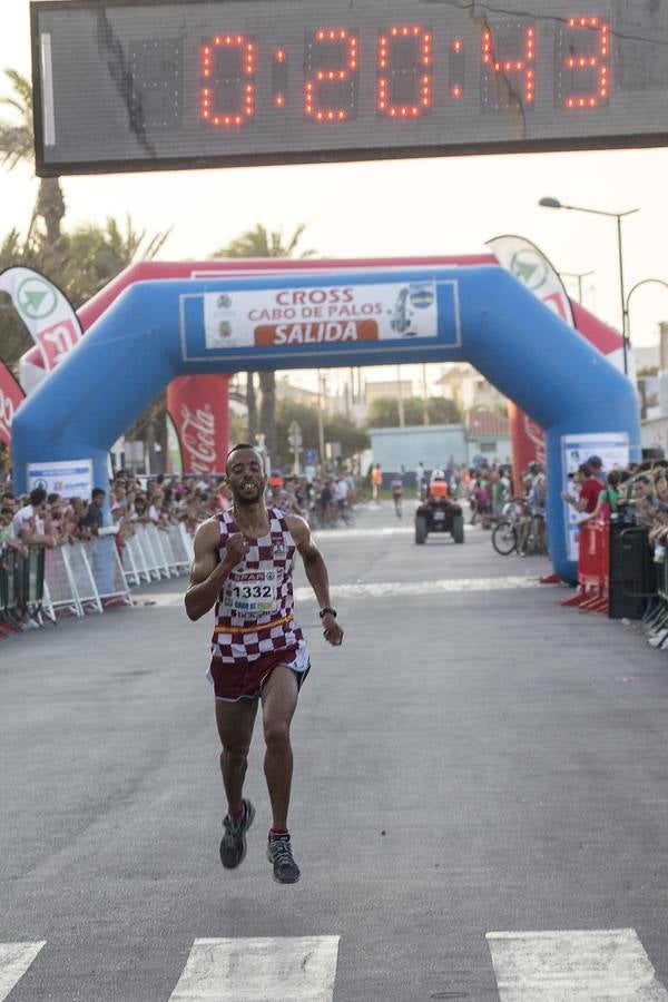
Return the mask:
{"type": "Polygon", "coordinates": [[[501,1002],[666,1002],[635,929],[490,932],[501,1002]]]}

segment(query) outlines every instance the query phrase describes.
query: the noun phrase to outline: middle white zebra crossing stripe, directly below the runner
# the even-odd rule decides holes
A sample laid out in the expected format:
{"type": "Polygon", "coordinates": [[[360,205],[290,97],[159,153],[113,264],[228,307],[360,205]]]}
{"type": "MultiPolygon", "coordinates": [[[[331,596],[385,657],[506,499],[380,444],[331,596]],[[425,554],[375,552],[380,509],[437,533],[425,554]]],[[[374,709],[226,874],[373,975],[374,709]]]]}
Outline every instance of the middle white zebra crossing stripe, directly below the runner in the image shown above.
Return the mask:
{"type": "Polygon", "coordinates": [[[195,940],[169,1002],[332,1002],[338,936],[195,940]]]}

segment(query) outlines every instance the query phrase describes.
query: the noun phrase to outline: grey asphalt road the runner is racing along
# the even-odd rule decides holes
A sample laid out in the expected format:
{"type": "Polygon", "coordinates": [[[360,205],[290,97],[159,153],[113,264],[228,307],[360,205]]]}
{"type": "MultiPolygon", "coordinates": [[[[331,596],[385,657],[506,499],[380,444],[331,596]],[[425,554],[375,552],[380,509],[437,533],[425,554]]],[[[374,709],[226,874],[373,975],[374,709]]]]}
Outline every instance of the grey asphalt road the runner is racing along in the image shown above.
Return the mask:
{"type": "Polygon", "coordinates": [[[320,544],[346,637],[322,640],[299,572],[292,887],[264,857],[259,731],[248,855],[220,867],[210,622],[184,579],[2,642],[0,944],[45,943],[10,1002],[167,1002],[197,939],[314,936],[340,937],[334,1002],[666,998],[668,656],[562,608],[547,561],[478,528],[416,547],[385,505],[320,544]],[[534,986],[503,988],[520,954],[497,964],[488,934],[582,930],[635,930],[640,991],[638,950],[605,991],[572,988],[571,944],[550,994],[536,935],[511,937],[534,986]]]}

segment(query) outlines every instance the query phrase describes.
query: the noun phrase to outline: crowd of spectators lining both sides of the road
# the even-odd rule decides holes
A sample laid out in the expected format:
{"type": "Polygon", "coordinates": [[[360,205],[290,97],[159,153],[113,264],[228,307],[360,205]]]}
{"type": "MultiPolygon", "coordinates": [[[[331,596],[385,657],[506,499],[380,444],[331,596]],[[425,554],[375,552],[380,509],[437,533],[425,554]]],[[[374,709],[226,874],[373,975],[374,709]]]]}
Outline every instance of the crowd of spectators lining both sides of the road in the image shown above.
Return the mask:
{"type": "MultiPolygon", "coordinates": [[[[503,513],[514,500],[512,470],[508,463],[490,463],[477,468],[449,463],[443,470],[415,471],[416,497],[424,497],[430,479],[438,473],[448,484],[452,500],[466,501],[471,522],[484,528],[503,513]]],[[[403,473],[395,473],[395,481],[403,473]]],[[[382,471],[370,470],[366,482],[352,474],[330,473],[313,480],[272,472],[267,484],[267,502],[282,511],[299,514],[314,528],[348,523],[355,504],[369,498],[380,502],[382,471]]],[[[521,482],[521,500],[531,511],[542,512],[546,500],[546,474],[539,463],[531,463],[521,482]]],[[[90,498],[63,498],[35,488],[30,494],[16,497],[9,485],[0,484],[0,552],[12,548],[26,554],[31,544],[58,547],[95,538],[102,527],[102,510],[109,510],[116,542],[124,541],[138,525],[153,523],[166,529],[183,522],[190,536],[197,525],[216,511],[226,510],[230,494],[222,477],[216,474],[139,477],[121,470],[107,489],[95,488],[90,498]]],[[[668,461],[628,463],[625,469],[603,471],[599,456],[592,455],[569,477],[562,494],[581,518],[592,515],[623,519],[648,530],[658,559],[668,546],[668,461]]]]}

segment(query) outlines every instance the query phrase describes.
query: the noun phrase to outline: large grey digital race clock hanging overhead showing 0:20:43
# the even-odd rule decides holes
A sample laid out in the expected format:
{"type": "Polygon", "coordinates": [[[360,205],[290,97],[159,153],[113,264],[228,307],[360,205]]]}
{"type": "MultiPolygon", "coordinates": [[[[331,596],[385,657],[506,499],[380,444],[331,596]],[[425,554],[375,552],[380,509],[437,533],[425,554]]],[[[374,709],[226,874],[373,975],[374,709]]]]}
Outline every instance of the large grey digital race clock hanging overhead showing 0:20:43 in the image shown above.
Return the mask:
{"type": "Polygon", "coordinates": [[[31,4],[37,173],[662,146],[656,0],[31,4]]]}

